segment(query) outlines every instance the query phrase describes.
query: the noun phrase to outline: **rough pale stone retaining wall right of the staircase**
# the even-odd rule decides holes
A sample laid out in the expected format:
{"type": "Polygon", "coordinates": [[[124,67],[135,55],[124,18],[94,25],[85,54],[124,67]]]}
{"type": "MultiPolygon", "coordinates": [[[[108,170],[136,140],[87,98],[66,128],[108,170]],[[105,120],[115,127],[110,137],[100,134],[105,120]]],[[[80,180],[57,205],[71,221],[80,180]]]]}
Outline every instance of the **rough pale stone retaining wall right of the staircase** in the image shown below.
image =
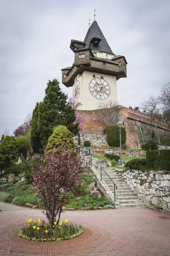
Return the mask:
{"type": "Polygon", "coordinates": [[[142,173],[136,170],[122,173],[131,189],[138,192],[147,207],[170,213],[170,174],[142,173]]]}

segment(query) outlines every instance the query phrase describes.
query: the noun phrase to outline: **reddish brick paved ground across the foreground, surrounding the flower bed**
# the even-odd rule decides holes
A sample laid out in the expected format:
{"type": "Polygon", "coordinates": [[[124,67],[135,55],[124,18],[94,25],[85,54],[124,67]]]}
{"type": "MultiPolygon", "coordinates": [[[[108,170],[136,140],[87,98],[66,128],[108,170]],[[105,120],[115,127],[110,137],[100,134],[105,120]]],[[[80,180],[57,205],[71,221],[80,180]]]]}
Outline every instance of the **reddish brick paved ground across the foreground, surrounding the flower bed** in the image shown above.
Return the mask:
{"type": "Polygon", "coordinates": [[[82,224],[85,232],[77,239],[33,242],[17,236],[26,218],[44,218],[40,210],[0,203],[0,256],[170,256],[170,218],[147,208],[65,211],[82,224]]]}

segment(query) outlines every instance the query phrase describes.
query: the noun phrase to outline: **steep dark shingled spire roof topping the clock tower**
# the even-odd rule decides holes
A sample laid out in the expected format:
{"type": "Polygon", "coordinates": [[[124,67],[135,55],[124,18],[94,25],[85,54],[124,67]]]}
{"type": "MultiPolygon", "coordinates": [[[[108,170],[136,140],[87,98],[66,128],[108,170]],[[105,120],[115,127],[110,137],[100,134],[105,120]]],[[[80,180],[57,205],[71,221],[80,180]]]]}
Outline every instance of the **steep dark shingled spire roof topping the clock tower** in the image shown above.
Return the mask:
{"type": "Polygon", "coordinates": [[[94,22],[91,24],[85,36],[85,48],[92,49],[91,40],[93,38],[101,39],[101,41],[99,42],[99,52],[114,54],[110,46],[108,45],[108,42],[106,41],[101,29],[99,28],[99,25],[97,24],[96,20],[94,20],[94,22]]]}

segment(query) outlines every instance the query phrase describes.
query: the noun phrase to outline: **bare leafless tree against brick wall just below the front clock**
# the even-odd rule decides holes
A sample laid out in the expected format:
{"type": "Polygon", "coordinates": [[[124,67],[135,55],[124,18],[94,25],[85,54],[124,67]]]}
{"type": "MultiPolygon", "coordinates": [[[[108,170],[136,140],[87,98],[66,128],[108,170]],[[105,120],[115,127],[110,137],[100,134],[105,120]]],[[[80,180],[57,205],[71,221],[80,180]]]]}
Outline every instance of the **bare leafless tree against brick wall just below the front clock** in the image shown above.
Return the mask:
{"type": "Polygon", "coordinates": [[[114,125],[119,120],[118,103],[113,100],[107,100],[105,102],[99,102],[97,104],[99,111],[98,120],[102,120],[106,125],[114,125]]]}

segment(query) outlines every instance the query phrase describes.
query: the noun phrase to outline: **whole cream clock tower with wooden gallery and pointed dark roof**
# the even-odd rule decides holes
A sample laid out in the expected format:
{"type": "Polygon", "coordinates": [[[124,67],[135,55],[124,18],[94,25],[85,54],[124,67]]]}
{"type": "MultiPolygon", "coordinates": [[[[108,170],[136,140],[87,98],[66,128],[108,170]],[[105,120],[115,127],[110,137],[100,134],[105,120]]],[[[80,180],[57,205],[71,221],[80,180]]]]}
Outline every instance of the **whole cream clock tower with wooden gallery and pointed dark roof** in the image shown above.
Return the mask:
{"type": "Polygon", "coordinates": [[[112,52],[96,20],[84,41],[72,39],[70,48],[74,64],[62,69],[62,84],[73,87],[78,109],[95,110],[99,102],[108,99],[118,102],[116,81],[127,77],[127,61],[112,52]]]}

